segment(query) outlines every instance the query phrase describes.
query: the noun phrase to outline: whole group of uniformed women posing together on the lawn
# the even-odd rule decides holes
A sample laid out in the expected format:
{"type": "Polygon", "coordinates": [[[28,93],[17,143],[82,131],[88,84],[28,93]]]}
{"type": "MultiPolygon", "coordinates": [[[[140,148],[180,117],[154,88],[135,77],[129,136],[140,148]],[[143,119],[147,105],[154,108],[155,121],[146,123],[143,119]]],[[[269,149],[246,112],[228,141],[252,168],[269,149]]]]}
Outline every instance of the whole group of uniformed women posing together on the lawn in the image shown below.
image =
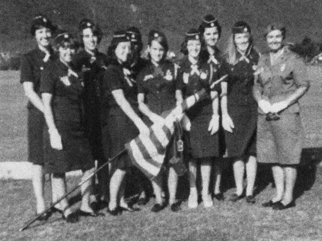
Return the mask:
{"type": "MultiPolygon", "coordinates": [[[[250,26],[236,22],[223,54],[216,47],[221,25],[213,15],[206,15],[198,29],[186,32],[183,58],[176,63],[167,58],[168,42],[161,31],[149,32],[147,59],[141,58],[143,43],[136,27],[114,32],[107,55],[98,51],[102,31],[89,19],[80,22],[79,42],[60,31],[51,44],[54,31],[45,16],[33,19],[31,33],[37,48],[23,56],[21,65],[21,82],[29,100],[29,160],[35,168],[36,213],[45,210],[44,173],[51,174],[55,202],[66,193],[66,172],[81,169],[85,180],[95,166],[117,158],[111,170],[100,170],[95,190],[92,179],[81,185],[78,212],[71,210],[65,198],[39,220],[47,220],[58,211],[67,222],[77,222],[79,216],[103,215],[98,210],[104,205],[111,215],[138,210],[125,200],[125,177],[133,167],[123,151],[124,144],[139,134],[148,137],[151,125],[164,122],[164,113],[202,89],[205,94],[178,116],[181,123],[175,126],[175,133],[183,132],[188,207],[198,206],[197,165],[204,207],[213,206],[211,193],[215,199],[224,200],[220,189],[224,153],[233,161],[236,183],[236,192],[229,200],[246,197],[247,203],[256,202],[257,162],[263,162],[272,164],[277,192],[262,205],[278,210],[295,206],[293,189],[301,151],[297,101],[309,82],[302,60],[283,45],[283,26],[269,25],[265,38],[270,51],[260,55],[253,46],[250,26]],[[210,85],[221,78],[223,81],[211,89],[210,85]],[[210,191],[212,167],[214,186],[210,191]]],[[[180,210],[175,198],[178,177],[183,174],[178,168],[182,162],[179,143],[174,137],[170,139],[164,161],[167,171],[151,180],[156,197],[153,212],[167,204],[172,211],[180,210]],[[165,177],[167,188],[163,185],[165,177]]],[[[132,173],[137,183],[146,183],[138,169],[132,173]]],[[[144,193],[145,187],[141,189],[144,193]]],[[[142,199],[145,203],[146,196],[142,199]]]]}

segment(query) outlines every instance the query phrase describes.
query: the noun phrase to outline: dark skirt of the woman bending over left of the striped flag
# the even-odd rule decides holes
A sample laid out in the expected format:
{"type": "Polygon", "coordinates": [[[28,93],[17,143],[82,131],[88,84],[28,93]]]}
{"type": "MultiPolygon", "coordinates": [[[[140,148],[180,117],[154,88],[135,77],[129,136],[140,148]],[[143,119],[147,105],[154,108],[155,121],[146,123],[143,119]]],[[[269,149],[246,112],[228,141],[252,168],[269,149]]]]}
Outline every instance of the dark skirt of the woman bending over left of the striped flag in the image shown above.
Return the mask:
{"type": "MultiPolygon", "coordinates": [[[[108,125],[102,128],[102,144],[106,158],[112,158],[125,149],[125,143],[139,135],[139,130],[120,108],[111,108],[108,119],[108,125]]],[[[126,170],[131,166],[131,161],[125,152],[111,164],[112,171],[126,170]]]]}

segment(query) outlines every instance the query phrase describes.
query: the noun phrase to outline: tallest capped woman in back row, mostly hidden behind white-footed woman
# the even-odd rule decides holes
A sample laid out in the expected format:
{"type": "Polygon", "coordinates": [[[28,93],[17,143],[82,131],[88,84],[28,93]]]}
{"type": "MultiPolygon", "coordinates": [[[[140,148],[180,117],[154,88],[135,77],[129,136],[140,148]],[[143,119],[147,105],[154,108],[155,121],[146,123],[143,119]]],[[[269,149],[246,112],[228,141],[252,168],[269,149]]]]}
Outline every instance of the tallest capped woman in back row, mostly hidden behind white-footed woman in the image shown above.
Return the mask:
{"type": "MultiPolygon", "coordinates": [[[[203,22],[199,26],[200,36],[201,36],[201,52],[200,52],[200,61],[207,62],[208,64],[212,65],[213,68],[213,80],[212,82],[219,79],[221,76],[224,76],[228,69],[227,63],[224,61],[220,50],[216,47],[216,43],[221,36],[221,26],[218,20],[211,14],[208,14],[204,17],[203,22]]],[[[227,103],[227,82],[221,82],[220,88],[217,88],[216,91],[220,94],[220,104],[225,105],[227,103]]],[[[223,108],[222,108],[223,109],[223,108]]],[[[216,118],[219,119],[219,111],[214,112],[218,113],[216,118]]],[[[222,117],[222,125],[223,129],[227,131],[232,131],[233,124],[230,120],[229,116],[221,114],[222,117]]],[[[218,145],[214,146],[216,157],[222,156],[222,149],[224,147],[224,141],[222,138],[223,131],[219,128],[219,142],[218,145]]],[[[210,172],[210,164],[205,172],[210,172]],[[208,170],[209,169],[209,170],[208,170]]],[[[214,162],[214,171],[215,171],[215,184],[214,184],[214,197],[217,200],[223,200],[223,194],[220,191],[220,182],[221,182],[221,165],[219,161],[214,162]]],[[[206,191],[204,191],[206,192],[206,191]]],[[[207,190],[208,192],[208,190],[207,190]]]]}

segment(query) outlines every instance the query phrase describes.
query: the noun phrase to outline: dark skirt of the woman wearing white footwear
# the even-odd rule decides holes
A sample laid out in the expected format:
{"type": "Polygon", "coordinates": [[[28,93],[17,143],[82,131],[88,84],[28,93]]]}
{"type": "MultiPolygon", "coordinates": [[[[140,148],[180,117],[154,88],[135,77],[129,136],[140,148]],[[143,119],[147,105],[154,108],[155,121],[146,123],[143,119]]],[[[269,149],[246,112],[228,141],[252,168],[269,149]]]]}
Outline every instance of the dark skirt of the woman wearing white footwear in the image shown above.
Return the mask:
{"type": "Polygon", "coordinates": [[[188,153],[192,158],[218,157],[218,132],[213,135],[208,131],[212,113],[203,113],[190,119],[191,129],[185,132],[188,153]]]}

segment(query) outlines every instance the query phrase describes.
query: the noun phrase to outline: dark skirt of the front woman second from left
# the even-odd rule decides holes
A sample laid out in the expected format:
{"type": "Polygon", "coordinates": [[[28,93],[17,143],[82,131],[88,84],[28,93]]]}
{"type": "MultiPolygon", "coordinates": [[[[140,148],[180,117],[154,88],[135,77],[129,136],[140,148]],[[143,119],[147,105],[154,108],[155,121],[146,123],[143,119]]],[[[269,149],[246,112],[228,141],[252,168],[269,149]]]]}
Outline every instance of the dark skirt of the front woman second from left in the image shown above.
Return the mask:
{"type": "Polygon", "coordinates": [[[46,172],[64,174],[73,170],[86,171],[93,168],[94,159],[84,131],[76,125],[73,129],[58,128],[58,132],[62,138],[62,150],[51,147],[48,130],[44,130],[46,172]]]}

